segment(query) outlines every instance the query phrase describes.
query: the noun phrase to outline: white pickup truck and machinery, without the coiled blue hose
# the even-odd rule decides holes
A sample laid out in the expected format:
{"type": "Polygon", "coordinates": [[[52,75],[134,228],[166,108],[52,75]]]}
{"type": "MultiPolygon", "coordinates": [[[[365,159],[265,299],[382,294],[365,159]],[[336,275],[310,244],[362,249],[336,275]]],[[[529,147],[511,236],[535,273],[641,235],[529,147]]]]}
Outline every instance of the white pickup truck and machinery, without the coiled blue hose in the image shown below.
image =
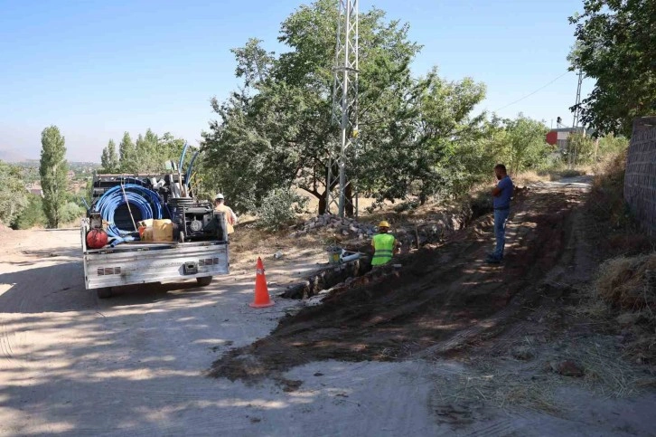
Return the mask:
{"type": "MultiPolygon", "coordinates": [[[[93,203],[89,207],[88,217],[81,223],[81,242],[85,285],[87,290],[96,290],[99,298],[110,297],[115,287],[131,284],[196,279],[199,285],[205,286],[210,284],[213,276],[230,272],[224,214],[213,211],[208,202],[198,202],[189,197],[184,202],[172,198],[173,194],[166,190],[166,184],[175,184],[175,175],[167,178],[166,184],[159,184],[161,186],[149,185],[151,182],[148,181],[154,180],[157,178],[152,176],[94,177],[93,203]],[[138,237],[130,237],[116,245],[89,248],[86,238],[89,231],[100,226],[108,227],[106,217],[102,217],[100,212],[107,210],[107,206],[103,206],[100,199],[110,188],[120,186],[123,190],[126,189],[124,187],[129,190],[129,186],[134,186],[136,181],[141,181],[139,184],[143,187],[140,190],[150,190],[158,195],[164,193],[161,195],[162,210],[167,215],[165,218],[170,218],[175,226],[174,241],[141,242],[138,237]]],[[[120,199],[120,196],[117,198],[120,199]]],[[[128,197],[125,199],[128,200],[128,197]]],[[[111,216],[116,223],[110,224],[119,224],[131,231],[131,223],[144,218],[138,215],[140,211],[136,205],[129,208],[129,204],[129,200],[123,203],[119,200],[114,204],[116,211],[111,216]]],[[[102,214],[107,215],[106,211],[102,214]]]]}

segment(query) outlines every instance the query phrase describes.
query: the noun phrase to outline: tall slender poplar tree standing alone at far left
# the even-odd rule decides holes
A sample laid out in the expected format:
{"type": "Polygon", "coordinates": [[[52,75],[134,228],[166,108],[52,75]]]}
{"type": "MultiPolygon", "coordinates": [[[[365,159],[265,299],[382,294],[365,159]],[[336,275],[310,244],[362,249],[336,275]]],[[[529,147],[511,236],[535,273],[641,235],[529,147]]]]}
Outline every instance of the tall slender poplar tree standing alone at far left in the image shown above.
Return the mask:
{"type": "Polygon", "coordinates": [[[61,223],[61,210],[66,203],[68,187],[66,147],[60,129],[56,126],[44,128],[41,144],[39,174],[43,190],[43,212],[48,219],[48,226],[57,228],[61,223]]]}

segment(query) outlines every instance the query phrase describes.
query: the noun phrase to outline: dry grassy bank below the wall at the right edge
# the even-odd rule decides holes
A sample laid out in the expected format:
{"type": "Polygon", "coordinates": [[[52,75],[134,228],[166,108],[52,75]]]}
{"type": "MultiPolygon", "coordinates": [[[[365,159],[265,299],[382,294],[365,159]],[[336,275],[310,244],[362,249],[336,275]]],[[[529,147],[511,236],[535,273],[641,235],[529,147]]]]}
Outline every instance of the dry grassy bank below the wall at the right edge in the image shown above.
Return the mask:
{"type": "MultiPolygon", "coordinates": [[[[606,261],[599,267],[586,303],[591,317],[623,333],[623,354],[656,364],[656,252],[623,199],[626,151],[595,166],[586,204],[587,233],[606,261]]],[[[653,368],[653,367],[651,367],[653,368]]]]}

